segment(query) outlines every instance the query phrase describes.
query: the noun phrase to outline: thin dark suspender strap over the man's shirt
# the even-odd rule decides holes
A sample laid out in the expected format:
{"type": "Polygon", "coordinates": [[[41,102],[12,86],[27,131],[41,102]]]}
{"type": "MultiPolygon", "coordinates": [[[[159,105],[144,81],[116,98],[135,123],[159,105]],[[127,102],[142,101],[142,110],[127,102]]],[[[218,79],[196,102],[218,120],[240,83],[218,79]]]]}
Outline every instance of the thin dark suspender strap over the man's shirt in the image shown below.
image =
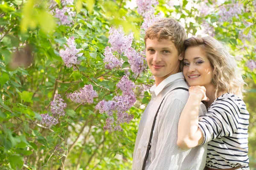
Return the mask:
{"type": "MultiPolygon", "coordinates": [[[[177,89],[182,89],[182,90],[185,90],[185,91],[189,91],[187,88],[181,88],[181,87],[180,87],[180,88],[175,88],[175,89],[173,89],[172,91],[177,90],[177,89]]],[[[170,92],[172,92],[172,91],[170,91],[170,92]]],[[[170,92],[169,92],[169,93],[170,93],[170,92]]],[[[169,93],[168,93],[168,94],[169,94],[169,93]]],[[[167,94],[166,94],[166,95],[167,95],[167,94]]],[[[166,97],[166,96],[164,96],[164,98],[165,98],[165,97],[166,97]]],[[[164,98],[163,98],[163,100],[164,100],[164,98]]],[[[153,125],[152,125],[152,127],[151,127],[151,132],[150,132],[150,136],[149,136],[147,152],[146,152],[146,155],[145,155],[145,158],[144,158],[144,161],[143,161],[142,170],[145,170],[146,161],[147,161],[147,159],[148,159],[148,153],[149,153],[149,150],[150,150],[150,148],[151,148],[151,140],[152,140],[152,137],[153,137],[154,125],[155,125],[155,123],[156,123],[157,114],[158,114],[158,111],[159,111],[159,109],[160,109],[160,107],[161,107],[161,105],[162,105],[162,103],[163,103],[163,100],[162,100],[162,102],[160,103],[160,106],[159,106],[158,109],[157,109],[156,115],[154,116],[154,121],[153,121],[153,125]]]]}

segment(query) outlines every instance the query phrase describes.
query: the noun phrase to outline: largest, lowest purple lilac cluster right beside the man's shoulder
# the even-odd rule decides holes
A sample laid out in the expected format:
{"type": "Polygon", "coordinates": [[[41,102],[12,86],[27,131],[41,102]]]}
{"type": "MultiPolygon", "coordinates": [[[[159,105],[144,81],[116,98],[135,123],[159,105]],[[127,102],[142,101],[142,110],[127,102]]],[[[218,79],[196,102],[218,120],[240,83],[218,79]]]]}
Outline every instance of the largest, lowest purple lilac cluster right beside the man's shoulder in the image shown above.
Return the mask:
{"type": "Polygon", "coordinates": [[[106,119],[106,125],[103,127],[109,133],[116,130],[122,131],[120,124],[129,123],[134,118],[134,115],[126,112],[136,102],[136,96],[133,91],[133,88],[135,88],[134,82],[131,82],[127,76],[124,76],[116,86],[122,90],[123,94],[121,96],[114,96],[113,100],[108,102],[102,100],[95,107],[95,109],[99,110],[99,113],[107,113],[110,116],[106,119]],[[116,113],[116,120],[113,118],[113,113],[116,113]]]}

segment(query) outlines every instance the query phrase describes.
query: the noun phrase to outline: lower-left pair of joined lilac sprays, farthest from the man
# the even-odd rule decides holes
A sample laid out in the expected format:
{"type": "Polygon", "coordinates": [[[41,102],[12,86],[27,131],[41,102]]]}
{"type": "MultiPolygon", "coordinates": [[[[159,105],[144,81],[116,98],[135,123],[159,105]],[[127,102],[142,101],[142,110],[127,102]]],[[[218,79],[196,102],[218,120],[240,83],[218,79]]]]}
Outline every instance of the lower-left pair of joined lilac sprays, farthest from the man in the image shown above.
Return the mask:
{"type": "Polygon", "coordinates": [[[64,109],[67,108],[67,103],[64,103],[64,100],[61,99],[61,95],[55,94],[53,101],[50,103],[52,116],[49,114],[41,114],[42,124],[45,124],[47,127],[56,125],[59,119],[65,115],[64,109]]]}

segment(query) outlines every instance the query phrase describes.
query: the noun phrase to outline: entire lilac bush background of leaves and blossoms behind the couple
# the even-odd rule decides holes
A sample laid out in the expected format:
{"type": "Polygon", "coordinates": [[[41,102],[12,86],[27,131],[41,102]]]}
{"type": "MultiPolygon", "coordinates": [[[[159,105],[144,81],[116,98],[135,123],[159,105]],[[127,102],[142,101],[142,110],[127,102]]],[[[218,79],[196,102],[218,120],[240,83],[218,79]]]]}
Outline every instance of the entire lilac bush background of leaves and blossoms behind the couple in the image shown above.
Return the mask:
{"type": "Polygon", "coordinates": [[[1,0],[0,169],[131,169],[154,82],[143,37],[161,17],[230,48],[256,170],[256,0],[1,0]]]}

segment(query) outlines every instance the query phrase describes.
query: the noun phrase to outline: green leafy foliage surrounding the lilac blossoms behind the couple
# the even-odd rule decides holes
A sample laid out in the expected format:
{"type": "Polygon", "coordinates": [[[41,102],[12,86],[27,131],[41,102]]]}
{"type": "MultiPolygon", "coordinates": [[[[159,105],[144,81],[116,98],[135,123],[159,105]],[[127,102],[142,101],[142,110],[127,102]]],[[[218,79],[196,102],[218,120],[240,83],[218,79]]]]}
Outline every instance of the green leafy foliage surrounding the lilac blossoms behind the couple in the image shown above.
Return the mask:
{"type": "MultiPolygon", "coordinates": [[[[59,0],[55,2],[51,8],[49,4],[53,1],[2,0],[0,3],[0,167],[3,170],[131,169],[138,123],[143,113],[141,108],[149,102],[150,94],[145,92],[138,97],[129,111],[135,118],[122,126],[123,132],[104,132],[102,127],[107,116],[99,114],[94,107],[101,99],[113,98],[114,93],[109,94],[101,86],[113,92],[118,77],[124,75],[124,70],[104,67],[103,53],[108,45],[109,28],[122,25],[125,32],[133,31],[136,37],[133,47],[144,49],[143,34],[140,34],[143,17],[136,8],[127,7],[129,1],[75,0],[70,6],[76,11],[73,24],[58,25],[50,11],[62,6],[59,0]],[[123,16],[126,20],[120,20],[123,16]],[[83,48],[79,70],[64,66],[59,56],[71,36],[77,48],[83,48]],[[93,104],[78,105],[66,98],[65,94],[85,84],[92,84],[94,90],[100,91],[93,104]],[[67,102],[67,115],[61,123],[44,128],[40,125],[40,114],[49,112],[49,103],[55,93],[61,94],[67,102]],[[62,158],[52,155],[56,144],[61,144],[65,150],[62,158]]],[[[218,15],[221,6],[231,8],[232,0],[215,6],[207,15],[200,15],[198,6],[201,3],[210,8],[214,5],[211,0],[180,0],[168,6],[167,1],[160,0],[156,13],[161,11],[164,17],[175,17],[190,37],[204,33],[203,23],[207,22],[215,38],[226,42],[234,56],[242,56],[238,64],[250,90],[244,95],[250,112],[249,156],[253,170],[256,169],[256,74],[246,62],[255,60],[256,6],[253,1],[242,0],[240,3],[246,10],[238,18],[221,22],[222,16],[218,15]],[[250,40],[241,39],[239,31],[248,34],[249,29],[252,32],[250,40]]],[[[133,74],[130,76],[136,84],[152,82],[150,77],[148,71],[138,79],[133,74]]]]}

